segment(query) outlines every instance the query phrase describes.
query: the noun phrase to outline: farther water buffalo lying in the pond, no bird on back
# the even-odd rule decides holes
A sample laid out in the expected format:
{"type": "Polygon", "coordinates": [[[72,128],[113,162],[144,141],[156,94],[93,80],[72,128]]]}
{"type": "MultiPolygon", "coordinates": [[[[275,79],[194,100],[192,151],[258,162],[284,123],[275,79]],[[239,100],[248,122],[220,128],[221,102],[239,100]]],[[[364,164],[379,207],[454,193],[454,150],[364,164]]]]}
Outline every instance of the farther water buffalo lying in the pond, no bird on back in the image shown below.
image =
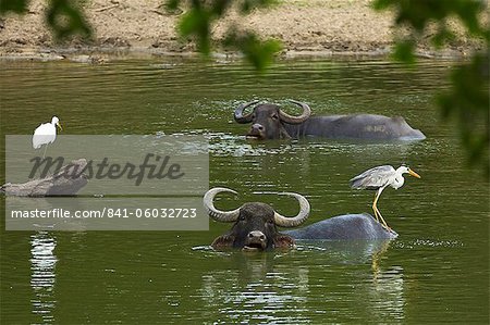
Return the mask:
{"type": "Polygon", "coordinates": [[[286,114],[277,104],[252,101],[241,104],[234,118],[241,124],[252,123],[247,136],[256,139],[289,139],[324,137],[331,139],[422,140],[426,136],[412,128],[401,116],[375,114],[311,116],[311,109],[292,100],[303,112],[298,116],[286,114]],[[254,107],[244,114],[245,109],[254,107]]]}

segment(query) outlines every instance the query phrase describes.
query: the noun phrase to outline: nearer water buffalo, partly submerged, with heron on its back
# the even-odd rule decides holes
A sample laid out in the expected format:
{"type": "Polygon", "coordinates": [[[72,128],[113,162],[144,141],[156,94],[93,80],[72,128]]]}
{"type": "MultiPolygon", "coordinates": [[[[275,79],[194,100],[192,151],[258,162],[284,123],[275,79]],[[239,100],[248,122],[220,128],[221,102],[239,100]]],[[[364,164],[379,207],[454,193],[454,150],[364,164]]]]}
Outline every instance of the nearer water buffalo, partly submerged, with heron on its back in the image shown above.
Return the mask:
{"type": "Polygon", "coordinates": [[[237,248],[243,250],[270,250],[274,248],[294,248],[294,239],[392,239],[397,234],[384,229],[369,214],[347,214],[331,217],[304,228],[278,232],[280,227],[296,227],[309,215],[308,200],[302,195],[283,192],[296,198],[299,212],[294,217],[285,217],[270,205],[260,202],[248,202],[232,211],[220,211],[215,208],[215,196],[220,192],[232,192],[229,188],[217,187],[206,192],[204,205],[213,220],[234,223],[230,232],[215,239],[215,249],[237,248]]]}

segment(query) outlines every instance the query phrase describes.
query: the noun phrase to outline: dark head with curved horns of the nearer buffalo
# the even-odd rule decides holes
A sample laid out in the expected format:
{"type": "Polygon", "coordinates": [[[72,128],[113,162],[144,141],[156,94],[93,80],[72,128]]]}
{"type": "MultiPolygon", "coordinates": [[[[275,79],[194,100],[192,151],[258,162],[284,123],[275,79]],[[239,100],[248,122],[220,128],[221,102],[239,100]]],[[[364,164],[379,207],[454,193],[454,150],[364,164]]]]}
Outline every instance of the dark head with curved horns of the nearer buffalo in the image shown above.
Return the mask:
{"type": "Polygon", "coordinates": [[[304,223],[309,215],[308,200],[298,193],[279,193],[292,196],[299,202],[299,213],[294,217],[285,217],[270,205],[259,202],[245,203],[232,211],[220,211],[212,203],[215,196],[219,192],[236,195],[236,191],[229,188],[212,188],[206,192],[204,205],[213,220],[234,224],[228,234],[215,239],[211,243],[215,249],[238,248],[261,251],[273,248],[293,248],[294,239],[279,233],[277,226],[295,227],[304,223]]]}

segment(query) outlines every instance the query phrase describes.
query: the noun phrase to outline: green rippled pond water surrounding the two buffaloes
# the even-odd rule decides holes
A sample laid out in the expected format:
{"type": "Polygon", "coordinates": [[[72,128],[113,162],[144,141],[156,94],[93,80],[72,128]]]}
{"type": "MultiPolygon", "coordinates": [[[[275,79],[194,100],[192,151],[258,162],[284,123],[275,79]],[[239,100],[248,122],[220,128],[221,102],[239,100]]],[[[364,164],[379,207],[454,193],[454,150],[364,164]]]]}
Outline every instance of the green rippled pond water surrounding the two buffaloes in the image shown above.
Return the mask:
{"type": "Polygon", "coordinates": [[[1,324],[488,324],[489,187],[434,104],[455,62],[283,61],[261,76],[228,61],[0,64],[2,143],[54,114],[66,135],[205,135],[210,187],[240,192],[220,207],[259,200],[291,215],[294,200],[252,192],[296,191],[311,224],[371,212],[372,192],[348,187],[369,167],[421,175],[380,199],[396,240],[258,254],[209,249],[230,227],[212,221],[209,232],[5,232],[1,198],[1,324]],[[402,115],[427,139],[249,142],[233,110],[252,99],[402,115]]]}

